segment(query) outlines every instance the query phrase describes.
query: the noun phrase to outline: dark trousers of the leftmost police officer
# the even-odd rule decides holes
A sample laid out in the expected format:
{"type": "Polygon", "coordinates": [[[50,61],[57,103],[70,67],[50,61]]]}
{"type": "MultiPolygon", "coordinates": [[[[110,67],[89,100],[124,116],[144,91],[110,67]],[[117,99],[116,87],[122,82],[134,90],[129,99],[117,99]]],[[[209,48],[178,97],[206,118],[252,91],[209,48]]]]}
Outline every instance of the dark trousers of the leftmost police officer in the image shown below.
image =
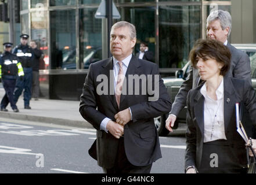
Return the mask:
{"type": "Polygon", "coordinates": [[[3,88],[5,88],[5,96],[1,101],[1,108],[6,108],[10,102],[12,109],[17,109],[16,103],[13,97],[13,91],[15,90],[16,79],[2,79],[3,88]]]}

